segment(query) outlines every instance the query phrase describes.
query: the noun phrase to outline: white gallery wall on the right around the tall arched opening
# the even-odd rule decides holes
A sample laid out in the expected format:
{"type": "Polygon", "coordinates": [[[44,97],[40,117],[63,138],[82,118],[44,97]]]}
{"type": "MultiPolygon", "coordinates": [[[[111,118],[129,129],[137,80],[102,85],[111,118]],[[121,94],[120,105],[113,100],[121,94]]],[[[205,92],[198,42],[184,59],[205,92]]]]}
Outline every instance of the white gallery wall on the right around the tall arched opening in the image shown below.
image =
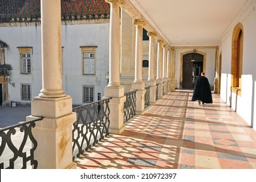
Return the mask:
{"type": "Polygon", "coordinates": [[[236,110],[249,125],[256,125],[255,81],[256,81],[256,1],[250,0],[240,10],[231,25],[223,33],[219,51],[222,53],[221,99],[236,110]],[[244,48],[242,62],[241,96],[231,94],[231,43],[234,27],[242,23],[244,27],[244,48]],[[232,101],[231,101],[232,100],[232,101]],[[254,118],[253,118],[254,116],[254,118]],[[254,124],[253,124],[254,123],[254,124]]]}

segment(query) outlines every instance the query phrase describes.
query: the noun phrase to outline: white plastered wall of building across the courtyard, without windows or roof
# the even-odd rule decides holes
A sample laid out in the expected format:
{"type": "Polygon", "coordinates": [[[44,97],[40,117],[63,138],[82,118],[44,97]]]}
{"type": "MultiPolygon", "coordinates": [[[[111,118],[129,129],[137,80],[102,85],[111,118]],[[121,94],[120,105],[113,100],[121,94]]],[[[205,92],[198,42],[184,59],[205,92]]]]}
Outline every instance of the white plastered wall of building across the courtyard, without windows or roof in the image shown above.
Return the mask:
{"type": "MultiPolygon", "coordinates": [[[[15,87],[8,85],[8,100],[21,100],[20,85],[31,84],[32,98],[42,89],[41,29],[40,25],[8,26],[0,28],[0,40],[8,45],[5,63],[11,64],[10,77],[15,87]],[[17,47],[33,47],[31,55],[31,75],[20,74],[19,50],[17,47]]],[[[82,104],[82,85],[95,86],[97,93],[104,96],[105,74],[108,72],[109,23],[62,25],[63,46],[63,89],[72,97],[73,104],[82,104]],[[82,55],[80,46],[97,46],[96,75],[82,75],[82,55]]]]}

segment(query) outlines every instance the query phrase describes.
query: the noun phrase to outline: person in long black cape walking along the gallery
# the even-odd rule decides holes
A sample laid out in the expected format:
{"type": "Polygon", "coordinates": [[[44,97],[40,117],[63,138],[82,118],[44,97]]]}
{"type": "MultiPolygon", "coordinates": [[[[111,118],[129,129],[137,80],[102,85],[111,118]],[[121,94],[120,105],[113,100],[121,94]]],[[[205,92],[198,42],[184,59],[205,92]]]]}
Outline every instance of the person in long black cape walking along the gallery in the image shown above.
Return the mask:
{"type": "Polygon", "coordinates": [[[201,76],[197,78],[195,83],[194,92],[192,96],[192,101],[199,101],[199,105],[204,103],[212,103],[212,91],[210,88],[210,83],[205,77],[205,73],[202,72],[201,76]]]}

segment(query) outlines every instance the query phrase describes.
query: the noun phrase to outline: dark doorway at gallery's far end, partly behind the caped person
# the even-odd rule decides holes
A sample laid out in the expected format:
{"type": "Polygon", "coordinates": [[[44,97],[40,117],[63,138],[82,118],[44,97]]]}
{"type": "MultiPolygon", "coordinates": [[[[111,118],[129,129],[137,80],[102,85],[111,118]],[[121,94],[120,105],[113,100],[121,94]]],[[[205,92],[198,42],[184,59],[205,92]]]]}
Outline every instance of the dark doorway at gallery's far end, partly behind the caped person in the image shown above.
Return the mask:
{"type": "Polygon", "coordinates": [[[202,72],[204,56],[189,53],[183,56],[182,88],[194,88],[195,82],[202,72]]]}

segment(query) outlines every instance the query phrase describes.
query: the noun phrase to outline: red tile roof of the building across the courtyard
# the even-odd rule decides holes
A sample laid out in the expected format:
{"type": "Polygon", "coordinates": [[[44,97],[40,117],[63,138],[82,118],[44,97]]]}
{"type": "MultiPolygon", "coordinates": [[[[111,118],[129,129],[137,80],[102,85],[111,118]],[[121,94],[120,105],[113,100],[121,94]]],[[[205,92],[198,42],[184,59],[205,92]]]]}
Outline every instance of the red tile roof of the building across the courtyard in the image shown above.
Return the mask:
{"type": "MultiPolygon", "coordinates": [[[[110,5],[104,0],[61,0],[63,19],[106,18],[109,12],[110,5]]],[[[0,21],[17,18],[40,18],[40,0],[1,0],[0,21]]]]}

